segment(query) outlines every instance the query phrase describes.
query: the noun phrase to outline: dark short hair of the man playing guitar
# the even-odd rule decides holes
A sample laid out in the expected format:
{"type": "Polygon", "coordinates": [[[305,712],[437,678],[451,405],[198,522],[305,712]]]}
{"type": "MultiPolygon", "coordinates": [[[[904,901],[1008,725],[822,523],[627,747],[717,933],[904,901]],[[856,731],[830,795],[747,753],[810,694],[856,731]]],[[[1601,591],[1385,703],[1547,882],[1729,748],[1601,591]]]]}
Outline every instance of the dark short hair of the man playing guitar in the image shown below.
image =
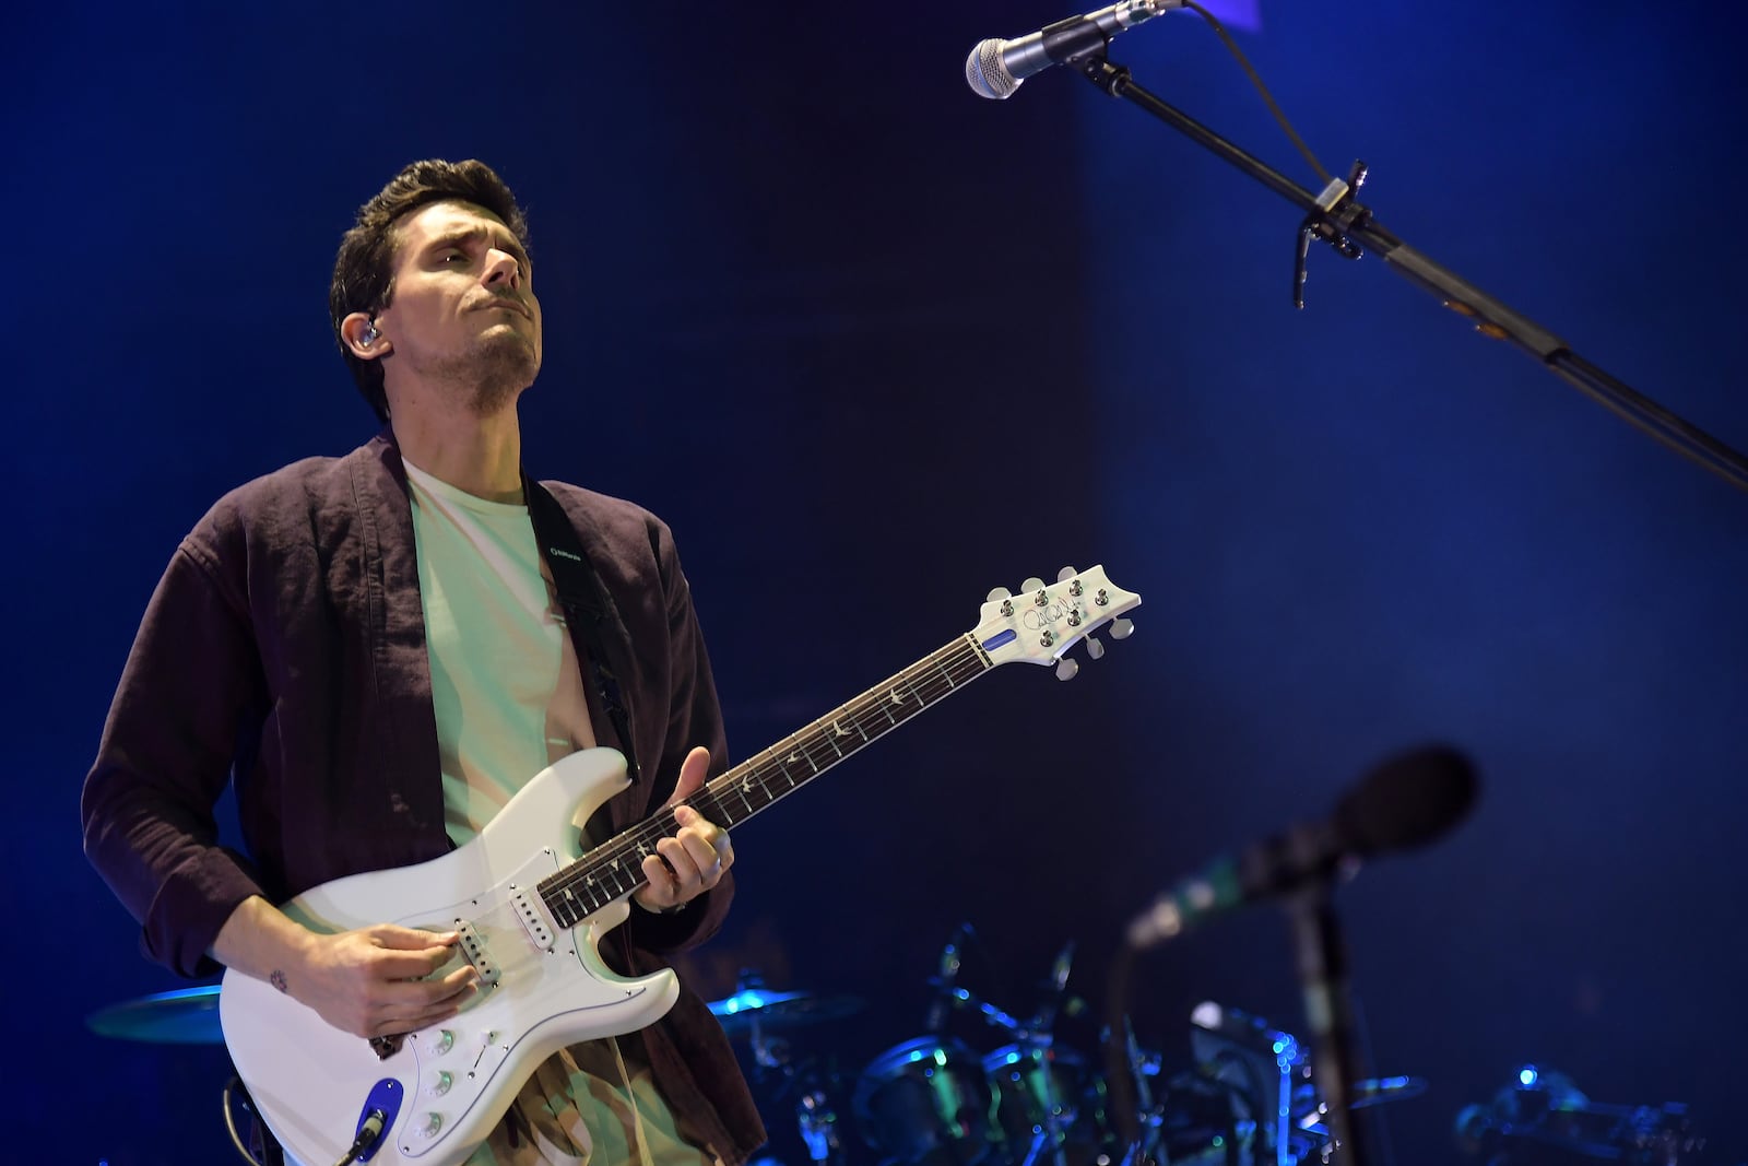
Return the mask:
{"type": "Polygon", "coordinates": [[[379,421],[388,421],[388,395],[383,392],[383,362],[360,360],[341,336],[341,320],[355,311],[371,316],[388,308],[395,297],[395,226],[413,212],[432,203],[474,203],[503,220],[516,241],[528,252],[528,220],[516,196],[491,166],[477,159],[446,163],[428,157],[406,166],[390,178],[376,198],[358,208],[358,220],[341,236],[339,255],[334,257],[334,281],[329,285],[329,315],[334,318],[334,341],[346,357],[351,379],[358,392],[376,409],[379,421]]]}

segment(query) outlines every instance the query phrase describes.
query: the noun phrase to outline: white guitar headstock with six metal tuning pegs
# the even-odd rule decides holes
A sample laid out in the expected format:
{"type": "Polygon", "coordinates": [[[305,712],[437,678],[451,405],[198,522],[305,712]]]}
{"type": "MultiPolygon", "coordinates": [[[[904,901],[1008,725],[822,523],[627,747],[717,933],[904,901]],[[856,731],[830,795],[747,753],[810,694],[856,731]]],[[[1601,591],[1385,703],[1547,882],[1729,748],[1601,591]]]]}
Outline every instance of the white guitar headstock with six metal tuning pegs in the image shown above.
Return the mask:
{"type": "Polygon", "coordinates": [[[1056,664],[1056,675],[1068,680],[1080,666],[1065,652],[1086,640],[1087,656],[1098,659],[1105,645],[1092,633],[1110,624],[1110,636],[1126,640],[1134,628],[1122,614],[1140,603],[1141,596],[1106,579],[1103,566],[1065,566],[1052,584],[1028,579],[1017,594],[991,591],[972,635],[993,664],[1056,664]]]}

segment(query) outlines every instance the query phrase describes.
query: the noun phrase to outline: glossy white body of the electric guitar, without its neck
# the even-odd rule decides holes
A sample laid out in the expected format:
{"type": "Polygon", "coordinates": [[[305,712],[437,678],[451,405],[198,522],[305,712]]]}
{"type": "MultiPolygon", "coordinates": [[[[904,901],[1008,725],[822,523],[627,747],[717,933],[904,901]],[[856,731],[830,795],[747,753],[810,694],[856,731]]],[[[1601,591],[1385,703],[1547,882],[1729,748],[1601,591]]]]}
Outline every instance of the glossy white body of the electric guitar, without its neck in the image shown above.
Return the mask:
{"type": "Polygon", "coordinates": [[[572,823],[626,783],[615,750],[573,753],[530,780],[467,846],[323,883],[281,907],[318,932],[378,923],[461,930],[456,958],[472,960],[482,981],[460,1016],[407,1033],[379,1056],[372,1042],[266,981],[227,972],[218,995],[225,1047],[295,1161],[337,1161],[369,1110],[381,1108],[386,1133],[360,1161],[454,1166],[542,1059],[579,1040],[636,1031],[673,1007],[680,984],[671,970],[624,979],[601,961],[601,935],[629,913],[624,897],[572,930],[535,893],[535,883],[579,858],[572,823]]]}

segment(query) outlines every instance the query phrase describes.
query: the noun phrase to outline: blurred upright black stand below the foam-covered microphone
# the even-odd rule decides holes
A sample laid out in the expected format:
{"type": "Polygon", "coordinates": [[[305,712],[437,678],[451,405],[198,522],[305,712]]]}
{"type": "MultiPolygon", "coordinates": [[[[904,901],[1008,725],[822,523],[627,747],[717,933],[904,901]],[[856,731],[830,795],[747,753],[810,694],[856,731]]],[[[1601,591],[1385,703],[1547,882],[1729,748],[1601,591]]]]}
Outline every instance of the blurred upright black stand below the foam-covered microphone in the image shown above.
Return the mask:
{"type": "Polygon", "coordinates": [[[1323,1161],[1328,1161],[1334,1150],[1348,1166],[1367,1166],[1362,1122],[1353,1115],[1353,1082],[1360,1075],[1360,1054],[1348,949],[1341,937],[1328,879],[1292,895],[1287,900],[1287,913],[1294,923],[1299,984],[1311,1030],[1311,1072],[1323,1100],[1323,1128],[1328,1131],[1323,1161]]]}

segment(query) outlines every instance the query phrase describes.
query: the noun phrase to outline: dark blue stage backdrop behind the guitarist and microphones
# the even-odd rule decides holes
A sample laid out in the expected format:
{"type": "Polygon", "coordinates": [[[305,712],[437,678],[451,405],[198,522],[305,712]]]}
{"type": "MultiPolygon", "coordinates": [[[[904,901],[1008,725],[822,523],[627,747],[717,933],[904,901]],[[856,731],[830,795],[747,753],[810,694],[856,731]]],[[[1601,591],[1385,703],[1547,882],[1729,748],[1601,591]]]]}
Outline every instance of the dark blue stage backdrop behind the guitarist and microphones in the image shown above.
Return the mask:
{"type": "MultiPolygon", "coordinates": [[[[7,1157],[229,1161],[220,1049],[82,1026],[177,982],[84,864],[77,794],[177,538],[372,432],[327,278],[427,156],[528,205],[528,465],[673,523],[738,757],[991,586],[1105,563],[1147,601],[1072,685],[1003,670],[743,827],[706,996],[745,965],[862,996],[794,1037],[853,1079],[921,1031],[968,920],[979,993],[1030,1010],[1073,939],[1103,1007],[1155,888],[1447,739],[1474,818],[1341,893],[1376,1068],[1432,1082],[1376,1110],[1395,1161],[1460,1161],[1454,1114],[1523,1061],[1689,1101],[1741,1157],[1748,495],[1376,257],[1320,248],[1295,313],[1297,212],[1066,70],[972,98],[965,51],[1059,5],[572,7],[12,17],[7,1157]]],[[[1748,446],[1734,5],[1262,16],[1243,47],[1325,164],[1370,163],[1384,226],[1748,446]]],[[[1199,21],[1117,47],[1314,185],[1199,21]]],[[[1147,956],[1143,1040],[1187,1063],[1210,996],[1302,1030],[1276,911],[1147,956]]]]}

